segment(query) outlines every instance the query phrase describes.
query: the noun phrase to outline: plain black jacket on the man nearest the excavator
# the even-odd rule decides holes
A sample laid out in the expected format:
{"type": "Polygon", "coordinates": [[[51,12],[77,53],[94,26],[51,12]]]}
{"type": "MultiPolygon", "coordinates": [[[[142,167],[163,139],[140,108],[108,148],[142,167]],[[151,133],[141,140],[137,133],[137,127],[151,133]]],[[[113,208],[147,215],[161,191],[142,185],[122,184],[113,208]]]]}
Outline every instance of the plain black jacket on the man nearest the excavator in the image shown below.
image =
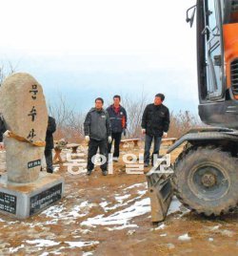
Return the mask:
{"type": "Polygon", "coordinates": [[[153,103],[147,105],[141,127],[146,129],[149,136],[162,137],[169,130],[169,109],[165,105],[156,106],[153,103]]]}

